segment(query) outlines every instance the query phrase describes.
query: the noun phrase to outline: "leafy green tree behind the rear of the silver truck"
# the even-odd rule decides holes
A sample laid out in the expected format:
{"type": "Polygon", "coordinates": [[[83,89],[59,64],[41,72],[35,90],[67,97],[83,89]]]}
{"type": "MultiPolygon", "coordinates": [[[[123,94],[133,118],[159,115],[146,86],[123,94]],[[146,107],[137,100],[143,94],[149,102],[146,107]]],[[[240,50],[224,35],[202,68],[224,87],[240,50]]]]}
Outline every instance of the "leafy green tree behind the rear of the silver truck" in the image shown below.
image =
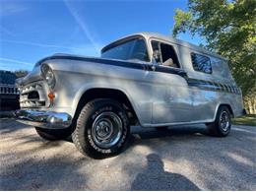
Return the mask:
{"type": "Polygon", "coordinates": [[[180,32],[199,34],[207,49],[229,60],[245,105],[255,113],[256,1],[189,0],[188,11],[177,9],[174,20],[174,36],[180,32]]]}

